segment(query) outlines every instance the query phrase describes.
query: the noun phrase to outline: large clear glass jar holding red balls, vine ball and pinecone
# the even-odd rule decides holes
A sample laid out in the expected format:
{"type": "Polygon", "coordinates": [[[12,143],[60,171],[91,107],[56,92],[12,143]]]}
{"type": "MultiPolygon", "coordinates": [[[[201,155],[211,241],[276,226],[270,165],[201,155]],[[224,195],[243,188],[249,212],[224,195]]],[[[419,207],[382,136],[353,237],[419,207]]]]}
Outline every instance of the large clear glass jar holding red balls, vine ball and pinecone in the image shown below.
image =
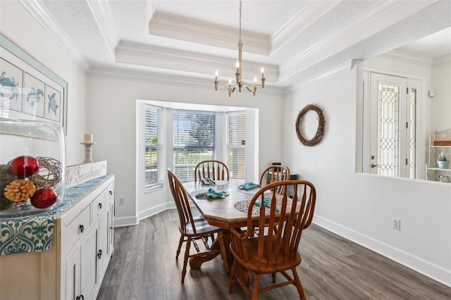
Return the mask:
{"type": "Polygon", "coordinates": [[[58,123],[0,120],[0,217],[47,212],[64,199],[66,142],[58,123]]]}

